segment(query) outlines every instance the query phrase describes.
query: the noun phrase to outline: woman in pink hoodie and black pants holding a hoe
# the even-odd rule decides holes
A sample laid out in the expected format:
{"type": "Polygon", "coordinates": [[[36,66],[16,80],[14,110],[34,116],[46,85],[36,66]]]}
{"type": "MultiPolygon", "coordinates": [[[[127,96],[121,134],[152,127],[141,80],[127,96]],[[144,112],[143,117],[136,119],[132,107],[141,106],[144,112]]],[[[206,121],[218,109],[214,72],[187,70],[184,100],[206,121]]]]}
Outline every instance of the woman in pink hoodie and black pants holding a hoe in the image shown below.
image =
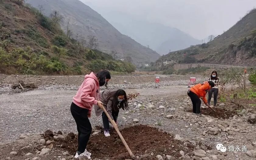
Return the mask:
{"type": "Polygon", "coordinates": [[[110,78],[110,73],[107,70],[100,71],[97,74],[93,72],[89,75],[87,74],[75,97],[73,97],[70,111],[75,119],[78,131],[78,151],[75,154],[75,158],[86,156],[90,159],[92,155],[86,150],[92,132],[88,117],[91,117],[93,104],[103,105],[99,100],[100,86],[105,85],[107,87],[107,82],[110,78]]]}

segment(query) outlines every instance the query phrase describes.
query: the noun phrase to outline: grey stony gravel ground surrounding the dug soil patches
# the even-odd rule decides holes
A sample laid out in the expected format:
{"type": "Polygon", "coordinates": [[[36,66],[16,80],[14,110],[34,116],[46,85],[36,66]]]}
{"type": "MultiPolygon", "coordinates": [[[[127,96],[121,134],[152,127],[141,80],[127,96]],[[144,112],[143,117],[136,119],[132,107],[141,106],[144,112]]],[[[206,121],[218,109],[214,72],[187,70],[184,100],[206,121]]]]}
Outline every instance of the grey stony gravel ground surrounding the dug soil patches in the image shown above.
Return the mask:
{"type": "MultiPolygon", "coordinates": [[[[147,77],[143,78],[147,79],[147,77]]],[[[241,115],[219,119],[186,112],[191,108],[191,101],[186,96],[188,88],[182,85],[186,80],[181,80],[182,77],[179,79],[170,80],[168,77],[160,88],[153,88],[153,84],[149,87],[149,82],[145,82],[145,85],[135,81],[132,81],[134,84],[115,85],[113,80],[114,82],[109,85],[110,88],[123,87],[127,93],[140,93],[139,97],[129,102],[129,111],[120,111],[119,128],[134,124],[147,124],[160,128],[175,135],[178,139],[202,143],[201,148],[204,148],[206,157],[209,159],[215,158],[211,157],[212,155],[217,156],[217,159],[255,159],[253,156],[256,156],[254,155],[256,128],[255,125],[247,122],[251,113],[244,111],[241,115]],[[135,118],[138,123],[134,122],[135,118]],[[229,145],[240,147],[247,145],[248,151],[247,153],[242,151],[222,153],[215,147],[219,143],[226,148],[229,145]]],[[[64,134],[77,132],[69,109],[72,97],[76,93],[77,84],[72,83],[67,87],[58,88],[59,85],[48,84],[45,88],[29,92],[8,94],[10,93],[8,91],[0,95],[0,148],[5,146],[4,143],[17,142],[16,139],[19,139],[21,134],[37,133],[38,135],[47,129],[55,132],[61,130],[64,134]],[[74,85],[73,88],[70,87],[72,85],[74,85]]],[[[64,84],[64,86],[66,85],[64,84]]],[[[2,88],[5,87],[2,86],[2,88]]],[[[232,109],[225,104],[221,107],[232,109]]],[[[93,127],[102,125],[101,117],[96,117],[94,112],[90,121],[93,127]]],[[[21,143],[22,140],[18,141],[21,143]]],[[[200,159],[199,157],[195,158],[200,159]]]]}

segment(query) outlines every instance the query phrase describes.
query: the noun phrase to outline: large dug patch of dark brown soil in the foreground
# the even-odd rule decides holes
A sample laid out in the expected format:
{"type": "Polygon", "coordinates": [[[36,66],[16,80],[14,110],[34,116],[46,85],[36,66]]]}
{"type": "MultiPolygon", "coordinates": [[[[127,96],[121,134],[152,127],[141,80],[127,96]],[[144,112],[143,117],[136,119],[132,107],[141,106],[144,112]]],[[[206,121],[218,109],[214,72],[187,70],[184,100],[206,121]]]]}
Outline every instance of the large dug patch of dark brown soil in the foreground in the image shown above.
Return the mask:
{"type": "MultiPolygon", "coordinates": [[[[175,158],[181,157],[179,151],[191,153],[194,147],[191,143],[178,141],[172,135],[166,132],[161,132],[157,128],[152,128],[145,125],[136,125],[124,128],[120,131],[128,146],[135,156],[149,154],[147,160],[156,159],[156,155],[171,155],[175,158]],[[154,153],[151,156],[151,153],[154,153]]],[[[111,137],[105,137],[104,134],[99,133],[90,137],[87,149],[92,153],[92,158],[110,158],[110,159],[129,159],[129,154],[124,147],[121,139],[117,137],[115,131],[110,131],[111,137]]],[[[46,139],[53,139],[52,137],[45,137],[46,139]]],[[[64,140],[56,140],[54,147],[63,148],[70,154],[75,155],[77,150],[77,135],[70,133],[64,140]]]]}

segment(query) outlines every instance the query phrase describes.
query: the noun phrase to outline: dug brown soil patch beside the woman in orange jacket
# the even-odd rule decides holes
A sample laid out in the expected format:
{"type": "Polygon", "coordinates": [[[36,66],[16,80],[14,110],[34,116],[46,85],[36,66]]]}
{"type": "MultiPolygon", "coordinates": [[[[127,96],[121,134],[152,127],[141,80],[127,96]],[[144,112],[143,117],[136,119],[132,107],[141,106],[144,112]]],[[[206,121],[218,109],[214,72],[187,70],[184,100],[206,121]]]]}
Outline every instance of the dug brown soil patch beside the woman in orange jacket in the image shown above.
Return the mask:
{"type": "MultiPolygon", "coordinates": [[[[201,114],[209,115],[215,118],[223,118],[223,119],[233,117],[235,114],[237,114],[236,111],[226,110],[218,107],[213,109],[215,110],[215,112],[212,111],[210,108],[201,108],[201,114]]],[[[193,111],[187,110],[187,112],[193,112],[193,111]]]]}

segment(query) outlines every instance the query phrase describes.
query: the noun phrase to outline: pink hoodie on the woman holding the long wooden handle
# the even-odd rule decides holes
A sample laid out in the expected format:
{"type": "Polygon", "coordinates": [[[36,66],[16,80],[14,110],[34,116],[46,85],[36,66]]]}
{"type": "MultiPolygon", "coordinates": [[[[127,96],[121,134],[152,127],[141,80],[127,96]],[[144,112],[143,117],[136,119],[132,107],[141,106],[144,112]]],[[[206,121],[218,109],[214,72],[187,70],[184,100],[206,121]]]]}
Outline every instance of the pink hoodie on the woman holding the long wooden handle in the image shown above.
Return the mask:
{"type": "Polygon", "coordinates": [[[79,87],[75,97],[73,97],[73,103],[81,108],[88,109],[90,114],[93,108],[93,104],[97,104],[100,89],[99,81],[95,74],[92,72],[89,75],[86,74],[84,81],[79,87]]]}

